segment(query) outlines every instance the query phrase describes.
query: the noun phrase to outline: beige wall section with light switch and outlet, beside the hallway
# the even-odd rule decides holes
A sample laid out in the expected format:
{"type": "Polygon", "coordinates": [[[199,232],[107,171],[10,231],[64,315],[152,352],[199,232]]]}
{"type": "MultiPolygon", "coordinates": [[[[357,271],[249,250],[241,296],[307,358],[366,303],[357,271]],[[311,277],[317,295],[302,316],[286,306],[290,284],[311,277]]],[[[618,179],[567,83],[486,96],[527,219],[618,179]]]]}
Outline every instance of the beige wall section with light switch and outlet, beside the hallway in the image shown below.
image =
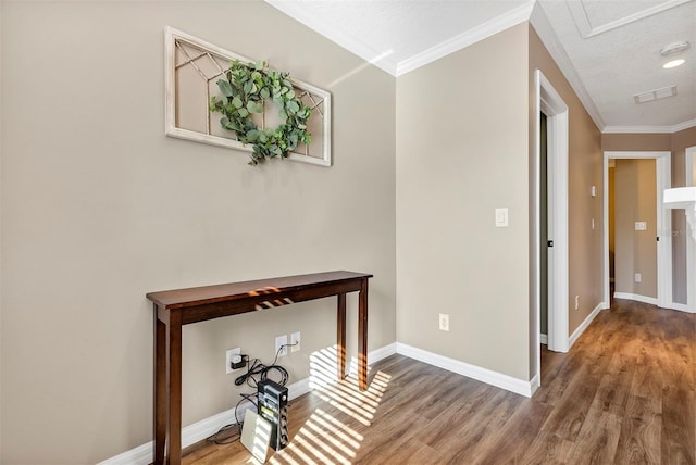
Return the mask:
{"type": "Polygon", "coordinates": [[[526,41],[514,26],[397,80],[397,339],[519,379],[530,379],[526,41]],[[510,226],[497,228],[502,206],[510,226]]]}

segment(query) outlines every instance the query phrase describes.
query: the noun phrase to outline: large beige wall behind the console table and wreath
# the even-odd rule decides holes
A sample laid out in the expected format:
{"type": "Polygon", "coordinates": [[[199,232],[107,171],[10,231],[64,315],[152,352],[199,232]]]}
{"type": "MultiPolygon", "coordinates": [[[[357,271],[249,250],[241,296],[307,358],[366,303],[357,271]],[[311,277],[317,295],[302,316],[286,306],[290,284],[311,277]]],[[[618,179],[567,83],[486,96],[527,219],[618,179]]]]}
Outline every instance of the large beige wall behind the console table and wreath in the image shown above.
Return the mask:
{"type": "MultiPolygon", "coordinates": [[[[0,462],[96,463],[151,440],[148,291],[371,272],[370,349],[396,340],[394,77],[260,1],[0,11],[0,462]],[[334,166],[251,168],[247,153],[166,138],[167,25],[330,90],[334,166]]],[[[334,299],[186,327],[184,424],[236,404],[225,350],[271,362],[295,330],[290,382],[335,342],[334,299]]]]}

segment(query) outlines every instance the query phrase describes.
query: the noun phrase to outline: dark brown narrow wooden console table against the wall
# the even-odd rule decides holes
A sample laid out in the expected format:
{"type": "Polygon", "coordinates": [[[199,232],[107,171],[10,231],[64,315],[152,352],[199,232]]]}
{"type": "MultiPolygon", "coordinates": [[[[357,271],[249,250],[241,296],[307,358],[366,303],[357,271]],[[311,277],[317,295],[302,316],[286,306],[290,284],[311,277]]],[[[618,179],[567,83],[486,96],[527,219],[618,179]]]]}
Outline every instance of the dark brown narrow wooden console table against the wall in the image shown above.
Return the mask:
{"type": "Polygon", "coordinates": [[[346,293],[358,297],[358,386],[368,388],[368,279],[328,272],[150,292],[154,303],[154,464],[182,461],[182,326],[337,296],[338,379],[346,377],[346,293]]]}

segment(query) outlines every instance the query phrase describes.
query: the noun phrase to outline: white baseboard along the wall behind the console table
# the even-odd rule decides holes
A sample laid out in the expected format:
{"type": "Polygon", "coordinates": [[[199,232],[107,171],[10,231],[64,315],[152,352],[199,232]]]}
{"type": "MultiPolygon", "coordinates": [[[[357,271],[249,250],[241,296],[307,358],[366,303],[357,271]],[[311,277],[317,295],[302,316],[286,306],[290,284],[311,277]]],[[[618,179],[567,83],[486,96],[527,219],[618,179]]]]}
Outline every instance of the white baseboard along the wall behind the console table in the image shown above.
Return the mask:
{"type": "MultiPolygon", "coordinates": [[[[389,355],[394,355],[397,353],[396,347],[396,342],[393,342],[385,347],[375,349],[372,352],[368,352],[368,364],[373,364],[389,355]]],[[[351,359],[350,373],[358,373],[358,360],[356,357],[351,359]]],[[[300,395],[304,395],[310,392],[312,389],[313,387],[310,385],[309,378],[300,379],[297,382],[288,385],[288,398],[289,400],[297,399],[300,395]]],[[[200,422],[185,427],[182,429],[182,448],[187,448],[208,438],[215,433],[220,428],[225,425],[229,425],[231,423],[236,423],[234,409],[203,418],[200,422]]],[[[152,462],[153,450],[154,443],[153,441],[150,441],[111,458],[107,458],[98,465],[149,465],[152,462]]]]}

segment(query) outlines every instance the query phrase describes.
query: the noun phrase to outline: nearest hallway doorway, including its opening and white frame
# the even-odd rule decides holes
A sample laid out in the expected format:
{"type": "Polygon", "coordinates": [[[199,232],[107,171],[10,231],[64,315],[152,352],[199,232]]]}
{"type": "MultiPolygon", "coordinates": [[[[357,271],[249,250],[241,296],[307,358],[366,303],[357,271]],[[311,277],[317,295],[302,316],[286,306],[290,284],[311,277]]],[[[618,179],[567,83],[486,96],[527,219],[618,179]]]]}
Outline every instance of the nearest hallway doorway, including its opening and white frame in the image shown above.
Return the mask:
{"type": "Polygon", "coordinates": [[[534,74],[536,87],[535,109],[535,213],[532,223],[534,228],[533,260],[535,272],[532,275],[535,286],[532,287],[536,321],[531,329],[531,353],[536,352],[534,381],[540,386],[542,366],[542,296],[547,297],[547,347],[551,351],[568,352],[568,105],[556,91],[544,74],[536,70],[534,74]],[[547,174],[545,190],[542,196],[542,114],[545,120],[547,174]],[[543,214],[543,210],[546,213],[543,214]],[[543,217],[544,216],[544,217],[543,217]],[[545,222],[543,226],[543,222],[545,222]],[[543,227],[547,232],[543,235],[543,227]],[[552,236],[552,237],[551,237],[552,236]],[[549,244],[552,241],[552,247],[549,244]],[[542,276],[542,261],[547,264],[546,276],[542,276]]]}

